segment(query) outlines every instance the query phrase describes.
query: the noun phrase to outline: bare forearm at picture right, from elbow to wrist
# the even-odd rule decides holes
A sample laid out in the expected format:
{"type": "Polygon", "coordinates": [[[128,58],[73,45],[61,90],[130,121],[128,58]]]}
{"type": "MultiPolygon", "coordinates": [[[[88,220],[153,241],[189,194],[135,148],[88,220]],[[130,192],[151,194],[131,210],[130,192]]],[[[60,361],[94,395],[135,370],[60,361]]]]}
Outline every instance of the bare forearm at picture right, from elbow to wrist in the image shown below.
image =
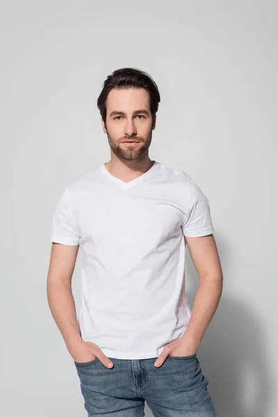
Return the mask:
{"type": "Polygon", "coordinates": [[[195,295],[192,314],[188,322],[186,332],[182,339],[192,339],[201,343],[206,328],[208,327],[218,307],[222,294],[222,274],[207,276],[200,279],[198,291],[195,295]]]}

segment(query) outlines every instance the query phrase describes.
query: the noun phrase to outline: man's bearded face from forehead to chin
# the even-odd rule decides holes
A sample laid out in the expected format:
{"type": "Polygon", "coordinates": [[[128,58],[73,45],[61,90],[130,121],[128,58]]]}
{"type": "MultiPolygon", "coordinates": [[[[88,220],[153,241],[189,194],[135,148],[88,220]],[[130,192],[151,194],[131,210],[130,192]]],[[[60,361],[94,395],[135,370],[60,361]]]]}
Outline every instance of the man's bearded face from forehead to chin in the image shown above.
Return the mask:
{"type": "Polygon", "coordinates": [[[147,155],[155,121],[153,124],[149,93],[145,88],[114,88],[109,92],[106,99],[106,126],[102,118],[101,123],[111,152],[117,158],[131,161],[147,155]]]}

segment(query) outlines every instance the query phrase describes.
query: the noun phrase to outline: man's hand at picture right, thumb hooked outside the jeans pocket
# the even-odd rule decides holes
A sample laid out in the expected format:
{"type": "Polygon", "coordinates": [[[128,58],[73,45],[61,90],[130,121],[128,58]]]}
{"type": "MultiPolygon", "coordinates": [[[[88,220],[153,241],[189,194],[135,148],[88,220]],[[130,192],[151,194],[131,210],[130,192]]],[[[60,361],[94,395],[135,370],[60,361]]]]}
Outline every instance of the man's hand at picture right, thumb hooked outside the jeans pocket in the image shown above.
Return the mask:
{"type": "Polygon", "coordinates": [[[154,362],[154,366],[161,366],[170,354],[173,356],[190,356],[195,354],[199,344],[200,342],[193,338],[186,339],[186,334],[183,334],[181,338],[172,341],[163,347],[163,351],[154,362]]]}

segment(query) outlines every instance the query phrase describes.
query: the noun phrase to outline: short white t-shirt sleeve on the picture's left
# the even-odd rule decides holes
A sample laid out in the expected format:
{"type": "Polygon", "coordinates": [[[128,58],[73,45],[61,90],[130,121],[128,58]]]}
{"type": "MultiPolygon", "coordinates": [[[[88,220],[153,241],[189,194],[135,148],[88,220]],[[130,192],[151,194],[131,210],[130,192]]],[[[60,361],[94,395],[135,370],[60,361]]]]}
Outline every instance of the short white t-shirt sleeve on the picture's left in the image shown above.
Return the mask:
{"type": "Polygon", "coordinates": [[[80,237],[72,211],[70,210],[68,191],[65,188],[54,208],[51,225],[51,242],[75,246],[79,245],[80,237]]]}

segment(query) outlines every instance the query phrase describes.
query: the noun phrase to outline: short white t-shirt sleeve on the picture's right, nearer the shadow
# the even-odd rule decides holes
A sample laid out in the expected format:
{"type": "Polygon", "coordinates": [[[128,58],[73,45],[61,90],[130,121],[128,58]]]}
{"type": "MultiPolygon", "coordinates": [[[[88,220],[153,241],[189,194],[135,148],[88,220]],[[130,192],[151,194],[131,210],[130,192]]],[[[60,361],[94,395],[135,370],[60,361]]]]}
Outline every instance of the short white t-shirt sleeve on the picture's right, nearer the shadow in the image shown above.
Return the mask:
{"type": "Polygon", "coordinates": [[[188,238],[213,234],[211,211],[208,199],[190,178],[188,213],[183,222],[183,234],[188,238]]]}

